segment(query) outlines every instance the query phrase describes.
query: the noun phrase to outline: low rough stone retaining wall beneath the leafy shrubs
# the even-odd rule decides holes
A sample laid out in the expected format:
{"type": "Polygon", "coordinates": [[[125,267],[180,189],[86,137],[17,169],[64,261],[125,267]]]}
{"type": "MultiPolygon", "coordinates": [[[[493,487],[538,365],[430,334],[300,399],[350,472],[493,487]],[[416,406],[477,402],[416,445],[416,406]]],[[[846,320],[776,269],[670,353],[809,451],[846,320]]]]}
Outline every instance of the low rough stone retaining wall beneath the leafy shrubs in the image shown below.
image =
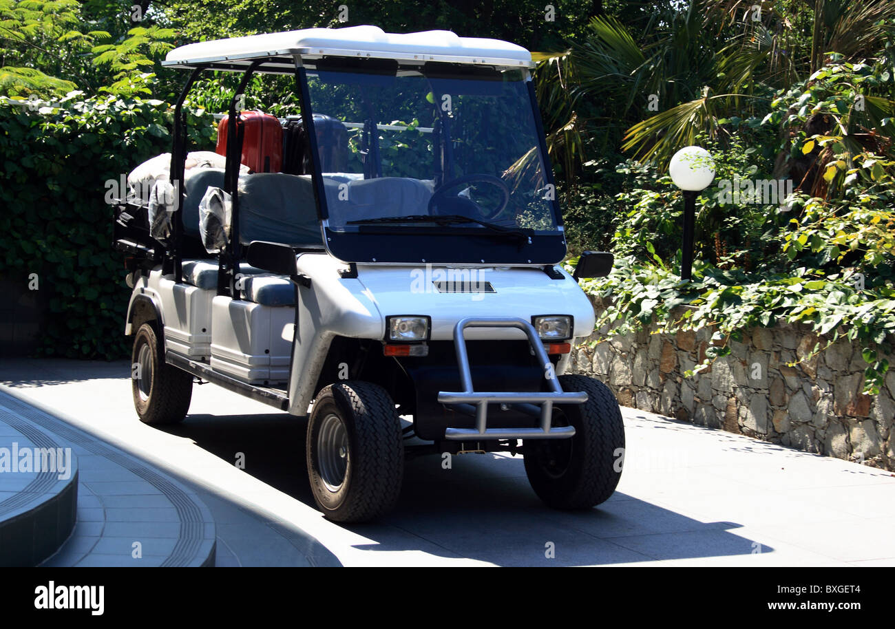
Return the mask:
{"type": "Polygon", "coordinates": [[[709,370],[686,378],[703,361],[712,330],[651,332],[595,333],[589,341],[597,344],[573,350],[570,370],[606,382],[623,406],[895,469],[895,369],[879,395],[861,393],[866,364],[857,343],[840,339],[802,361],[818,341],[806,327],[755,327],[709,370]]]}

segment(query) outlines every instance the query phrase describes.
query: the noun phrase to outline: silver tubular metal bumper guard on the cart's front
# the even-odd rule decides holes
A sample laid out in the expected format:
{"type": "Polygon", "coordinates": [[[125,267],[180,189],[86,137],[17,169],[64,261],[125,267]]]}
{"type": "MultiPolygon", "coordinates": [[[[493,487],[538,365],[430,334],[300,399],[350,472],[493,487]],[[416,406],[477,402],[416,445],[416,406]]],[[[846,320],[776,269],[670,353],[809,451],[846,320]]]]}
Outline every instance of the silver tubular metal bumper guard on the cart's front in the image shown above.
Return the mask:
{"type": "Polygon", "coordinates": [[[475,429],[447,428],[445,438],[451,441],[477,441],[482,439],[562,439],[575,435],[572,426],[550,427],[553,403],[584,404],[584,391],[566,393],[559,387],[553,363],[544,351],[544,345],[533,325],[525,319],[501,317],[467,317],[457,321],[454,327],[456,361],[460,368],[460,383],[463,391],[439,391],[439,403],[456,406],[457,410],[474,412],[475,429]],[[476,392],[473,391],[473,377],[469,369],[464,331],[467,327],[516,327],[528,336],[534,355],[544,370],[544,377],[552,391],[549,392],[476,392]],[[541,418],[540,428],[489,429],[488,404],[512,404],[519,410],[541,418]],[[540,408],[538,407],[540,404],[540,408]]]}

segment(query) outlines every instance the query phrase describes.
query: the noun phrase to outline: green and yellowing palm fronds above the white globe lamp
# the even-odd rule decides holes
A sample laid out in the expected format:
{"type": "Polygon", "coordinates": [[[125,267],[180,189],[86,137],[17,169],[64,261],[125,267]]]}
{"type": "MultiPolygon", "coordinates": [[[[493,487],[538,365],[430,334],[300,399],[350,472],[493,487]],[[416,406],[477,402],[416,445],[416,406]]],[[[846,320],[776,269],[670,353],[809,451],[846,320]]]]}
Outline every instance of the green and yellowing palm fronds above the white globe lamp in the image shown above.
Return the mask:
{"type": "Polygon", "coordinates": [[[574,179],[583,129],[584,138],[609,140],[626,129],[622,149],[659,162],[699,134],[723,140],[720,120],[754,114],[762,98],[807,79],[831,51],[846,60],[878,54],[893,24],[895,0],[692,0],[636,34],[594,18],[582,42],[538,68],[541,102],[556,113],[545,121],[551,154],[574,179]],[[660,111],[644,119],[649,99],[660,111]],[[582,115],[594,102],[606,104],[602,115],[582,115]]]}

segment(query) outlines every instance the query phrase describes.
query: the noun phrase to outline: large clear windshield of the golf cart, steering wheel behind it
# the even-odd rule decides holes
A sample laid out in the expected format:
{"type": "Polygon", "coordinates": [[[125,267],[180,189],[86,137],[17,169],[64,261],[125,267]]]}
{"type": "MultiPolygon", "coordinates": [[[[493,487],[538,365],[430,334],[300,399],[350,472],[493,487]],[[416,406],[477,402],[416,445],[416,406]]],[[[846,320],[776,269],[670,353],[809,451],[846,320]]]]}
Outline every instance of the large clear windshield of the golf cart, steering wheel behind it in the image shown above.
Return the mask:
{"type": "Polygon", "coordinates": [[[526,73],[445,65],[308,70],[329,228],[557,234],[526,73]]]}

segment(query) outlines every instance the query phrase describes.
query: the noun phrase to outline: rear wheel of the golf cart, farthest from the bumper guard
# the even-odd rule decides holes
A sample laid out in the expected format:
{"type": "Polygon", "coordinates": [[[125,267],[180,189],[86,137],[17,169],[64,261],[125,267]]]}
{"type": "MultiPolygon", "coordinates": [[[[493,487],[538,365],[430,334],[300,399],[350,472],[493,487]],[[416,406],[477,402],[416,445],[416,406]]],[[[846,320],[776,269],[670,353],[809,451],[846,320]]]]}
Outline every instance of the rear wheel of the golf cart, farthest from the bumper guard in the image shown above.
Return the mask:
{"type": "Polygon", "coordinates": [[[133,338],[133,406],[140,421],[155,426],[183,421],[192,399],[192,374],[167,364],[164,355],[155,327],[144,323],[133,338]]]}

